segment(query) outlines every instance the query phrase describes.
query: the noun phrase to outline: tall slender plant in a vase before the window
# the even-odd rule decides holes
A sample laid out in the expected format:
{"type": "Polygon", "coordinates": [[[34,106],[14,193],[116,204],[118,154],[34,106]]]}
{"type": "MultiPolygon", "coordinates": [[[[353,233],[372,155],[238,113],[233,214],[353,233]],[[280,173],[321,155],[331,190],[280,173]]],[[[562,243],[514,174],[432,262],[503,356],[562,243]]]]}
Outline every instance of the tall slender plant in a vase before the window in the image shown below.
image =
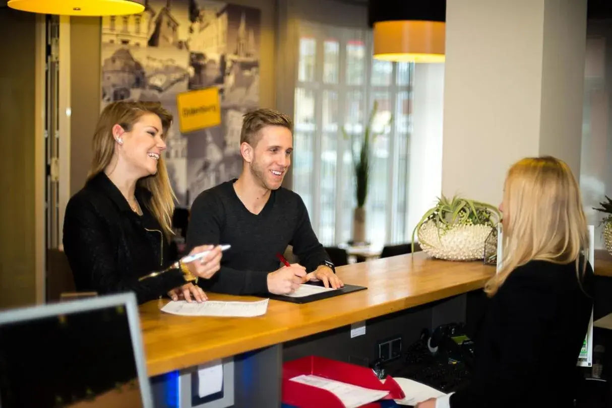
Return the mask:
{"type": "MultiPolygon", "coordinates": [[[[392,118],[383,123],[377,123],[376,128],[381,129],[381,132],[375,132],[374,122],[380,119],[378,113],[378,101],[374,101],[374,107],[370,113],[368,123],[365,126],[364,135],[359,141],[356,136],[351,133],[349,135],[344,127],[341,132],[345,139],[351,141],[351,153],[353,154],[353,172],[355,174],[355,199],[357,206],[353,209],[353,245],[363,245],[366,242],[365,237],[365,202],[368,198],[368,184],[370,181],[370,160],[371,160],[371,140],[384,132],[387,125],[390,125],[392,118]]],[[[383,118],[384,119],[384,118],[383,118]]]]}

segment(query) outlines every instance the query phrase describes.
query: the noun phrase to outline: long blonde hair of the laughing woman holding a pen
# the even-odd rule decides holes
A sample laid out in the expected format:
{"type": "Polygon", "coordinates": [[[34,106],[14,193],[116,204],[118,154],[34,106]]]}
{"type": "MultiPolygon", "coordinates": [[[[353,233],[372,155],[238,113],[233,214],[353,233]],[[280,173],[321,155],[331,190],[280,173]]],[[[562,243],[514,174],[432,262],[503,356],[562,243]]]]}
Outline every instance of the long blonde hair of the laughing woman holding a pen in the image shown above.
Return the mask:
{"type": "MultiPolygon", "coordinates": [[[[159,102],[113,102],[103,109],[100,119],[95,126],[92,141],[94,158],[88,174],[88,180],[99,172],[104,171],[113,159],[115,140],[113,126],[121,125],[126,132],[132,130],[133,125],[147,113],[159,116],[162,121],[162,138],[165,139],[170,130],[173,116],[164,109],[159,102]]],[[[167,238],[173,235],[172,215],[174,213],[174,191],[170,185],[170,177],[166,170],[163,157],[157,161],[157,173],[153,176],[138,180],[138,186],[151,191],[151,201],[146,203],[147,208],[162,226],[167,238]]]]}

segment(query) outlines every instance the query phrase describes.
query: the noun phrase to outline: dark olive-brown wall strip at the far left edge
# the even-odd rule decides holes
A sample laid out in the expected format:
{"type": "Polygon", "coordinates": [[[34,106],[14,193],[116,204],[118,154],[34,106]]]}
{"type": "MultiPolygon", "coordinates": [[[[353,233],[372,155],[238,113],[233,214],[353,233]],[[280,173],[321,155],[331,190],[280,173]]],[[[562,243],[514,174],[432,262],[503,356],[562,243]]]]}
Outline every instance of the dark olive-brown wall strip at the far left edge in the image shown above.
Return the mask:
{"type": "Polygon", "coordinates": [[[10,56],[0,64],[0,308],[36,302],[37,270],[42,276],[37,242],[43,231],[36,222],[42,185],[36,171],[44,159],[37,153],[42,141],[36,141],[36,34],[34,14],[0,9],[1,50],[10,56]]]}

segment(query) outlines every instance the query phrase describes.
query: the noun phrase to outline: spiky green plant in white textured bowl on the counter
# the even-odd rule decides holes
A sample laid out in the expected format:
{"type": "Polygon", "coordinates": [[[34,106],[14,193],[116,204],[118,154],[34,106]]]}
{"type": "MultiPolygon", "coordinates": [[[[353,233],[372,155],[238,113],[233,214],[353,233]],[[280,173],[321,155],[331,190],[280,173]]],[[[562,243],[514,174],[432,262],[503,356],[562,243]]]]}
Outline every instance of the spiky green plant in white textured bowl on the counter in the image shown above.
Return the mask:
{"type": "Polygon", "coordinates": [[[433,258],[449,261],[483,259],[485,242],[496,228],[499,210],[485,202],[460,196],[438,198],[435,207],[427,210],[412,231],[420,247],[433,258]]]}

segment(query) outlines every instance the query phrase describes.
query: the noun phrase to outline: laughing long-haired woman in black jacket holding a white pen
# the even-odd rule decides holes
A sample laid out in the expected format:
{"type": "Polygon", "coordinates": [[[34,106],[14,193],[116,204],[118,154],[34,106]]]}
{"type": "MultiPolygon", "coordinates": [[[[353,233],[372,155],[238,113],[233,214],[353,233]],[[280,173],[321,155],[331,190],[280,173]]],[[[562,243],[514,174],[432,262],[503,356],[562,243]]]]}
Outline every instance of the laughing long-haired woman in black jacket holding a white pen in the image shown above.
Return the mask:
{"type": "Polygon", "coordinates": [[[91,172],[64,217],[64,251],[78,291],[132,291],[139,303],[166,294],[206,300],[197,278],[217,272],[220,247],[193,248],[210,253],[189,264],[168,259],[174,193],[162,152],[172,119],[156,102],[114,102],[102,111],[91,172]]]}

